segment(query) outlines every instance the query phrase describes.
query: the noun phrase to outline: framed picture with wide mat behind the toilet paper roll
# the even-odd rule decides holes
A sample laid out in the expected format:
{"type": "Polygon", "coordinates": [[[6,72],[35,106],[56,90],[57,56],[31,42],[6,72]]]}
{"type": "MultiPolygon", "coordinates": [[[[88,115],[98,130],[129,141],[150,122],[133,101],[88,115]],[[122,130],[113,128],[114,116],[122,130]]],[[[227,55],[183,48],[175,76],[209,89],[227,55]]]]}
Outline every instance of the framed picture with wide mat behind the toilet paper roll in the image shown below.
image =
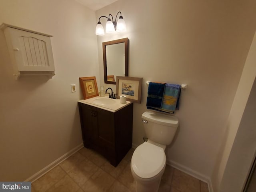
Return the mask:
{"type": "Polygon", "coordinates": [[[142,78],[140,77],[116,77],[116,94],[125,95],[126,100],[140,103],[142,78]]]}

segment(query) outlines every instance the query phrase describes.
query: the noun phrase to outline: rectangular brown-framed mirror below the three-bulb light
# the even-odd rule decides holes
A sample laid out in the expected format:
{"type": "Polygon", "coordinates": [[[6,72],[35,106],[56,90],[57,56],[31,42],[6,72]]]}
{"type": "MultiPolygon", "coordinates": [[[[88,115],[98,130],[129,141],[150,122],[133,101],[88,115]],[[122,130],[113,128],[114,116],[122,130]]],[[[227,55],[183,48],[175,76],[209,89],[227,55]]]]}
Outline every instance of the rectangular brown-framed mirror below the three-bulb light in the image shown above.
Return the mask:
{"type": "Polygon", "coordinates": [[[116,76],[128,76],[128,38],[102,43],[104,82],[116,84],[116,76]]]}

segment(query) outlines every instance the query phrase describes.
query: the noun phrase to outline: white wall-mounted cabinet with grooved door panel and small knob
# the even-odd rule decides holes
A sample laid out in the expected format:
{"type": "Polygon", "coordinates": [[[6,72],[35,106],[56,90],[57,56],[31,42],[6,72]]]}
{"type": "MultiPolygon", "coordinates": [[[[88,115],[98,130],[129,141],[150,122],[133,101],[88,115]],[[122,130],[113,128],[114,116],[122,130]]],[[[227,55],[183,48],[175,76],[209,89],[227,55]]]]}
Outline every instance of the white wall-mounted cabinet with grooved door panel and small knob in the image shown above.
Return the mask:
{"type": "Polygon", "coordinates": [[[23,75],[55,75],[51,35],[2,24],[16,80],[23,75]]]}

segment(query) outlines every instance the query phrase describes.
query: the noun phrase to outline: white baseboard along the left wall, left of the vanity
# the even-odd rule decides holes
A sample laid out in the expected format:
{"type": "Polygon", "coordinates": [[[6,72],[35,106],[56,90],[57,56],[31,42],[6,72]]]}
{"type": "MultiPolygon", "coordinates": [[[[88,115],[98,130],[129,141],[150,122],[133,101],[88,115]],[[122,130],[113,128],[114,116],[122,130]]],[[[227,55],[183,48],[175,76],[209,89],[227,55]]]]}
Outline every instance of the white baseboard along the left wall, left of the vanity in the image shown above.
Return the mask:
{"type": "Polygon", "coordinates": [[[30,178],[26,179],[25,182],[34,182],[38,178],[42,177],[44,174],[52,170],[54,167],[56,167],[58,164],[60,164],[62,161],[66,160],[68,157],[70,157],[72,154],[80,150],[84,147],[84,144],[81,143],[66,154],[62,155],[60,158],[49,164],[48,166],[44,167],[42,170],[38,171],[36,174],[32,175],[30,178]]]}

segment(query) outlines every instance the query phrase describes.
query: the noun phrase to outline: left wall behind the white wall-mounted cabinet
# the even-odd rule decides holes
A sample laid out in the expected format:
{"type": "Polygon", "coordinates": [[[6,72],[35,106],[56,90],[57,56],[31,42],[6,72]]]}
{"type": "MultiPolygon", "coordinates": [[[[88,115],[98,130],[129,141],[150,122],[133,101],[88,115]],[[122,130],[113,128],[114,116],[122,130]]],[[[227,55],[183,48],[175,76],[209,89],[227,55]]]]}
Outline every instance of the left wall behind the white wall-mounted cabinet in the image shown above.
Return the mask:
{"type": "Polygon", "coordinates": [[[53,35],[56,75],[16,81],[0,30],[0,180],[22,181],[82,143],[78,78],[100,82],[95,12],[73,0],[1,0],[2,22],[53,35]]]}

